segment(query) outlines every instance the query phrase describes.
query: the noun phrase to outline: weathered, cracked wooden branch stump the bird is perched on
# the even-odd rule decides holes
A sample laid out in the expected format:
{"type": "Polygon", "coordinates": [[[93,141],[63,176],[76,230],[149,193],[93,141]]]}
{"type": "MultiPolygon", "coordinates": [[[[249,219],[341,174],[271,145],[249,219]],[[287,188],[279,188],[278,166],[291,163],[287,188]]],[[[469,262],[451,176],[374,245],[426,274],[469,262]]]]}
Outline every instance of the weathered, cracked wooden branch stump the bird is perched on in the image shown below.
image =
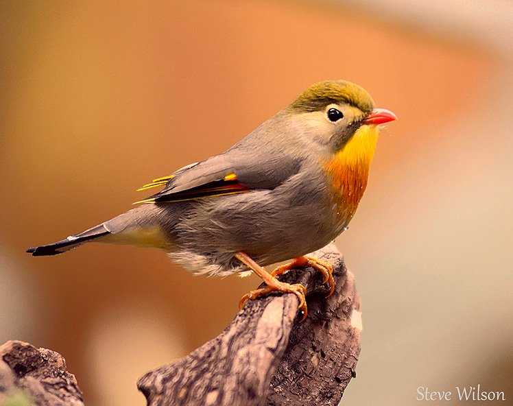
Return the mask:
{"type": "Polygon", "coordinates": [[[330,245],[313,256],[335,267],[326,299],[312,268],[282,276],[307,287],[309,317],[296,317],[293,294],[248,302],[217,337],[193,353],[148,372],[138,387],[149,406],[338,405],[360,350],[361,313],[353,275],[330,245]]]}

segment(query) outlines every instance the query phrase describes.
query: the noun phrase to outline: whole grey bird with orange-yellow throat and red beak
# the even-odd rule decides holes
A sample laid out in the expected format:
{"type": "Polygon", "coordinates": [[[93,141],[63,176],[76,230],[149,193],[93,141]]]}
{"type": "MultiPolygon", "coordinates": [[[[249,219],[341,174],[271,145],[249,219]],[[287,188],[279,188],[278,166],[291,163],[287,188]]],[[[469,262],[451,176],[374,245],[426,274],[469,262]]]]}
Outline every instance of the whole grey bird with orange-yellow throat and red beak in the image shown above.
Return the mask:
{"type": "Polygon", "coordinates": [[[315,83],[225,152],[144,184],[137,190],[160,191],[131,210],[27,252],[56,255],[91,241],[160,248],[194,274],[254,272],[265,286],[244,295],[241,308],[272,292],[291,293],[305,318],[305,287],[278,276],[311,266],[333,294],[333,267],[308,253],[348,228],[379,130],[396,118],[353,82],[315,83]]]}

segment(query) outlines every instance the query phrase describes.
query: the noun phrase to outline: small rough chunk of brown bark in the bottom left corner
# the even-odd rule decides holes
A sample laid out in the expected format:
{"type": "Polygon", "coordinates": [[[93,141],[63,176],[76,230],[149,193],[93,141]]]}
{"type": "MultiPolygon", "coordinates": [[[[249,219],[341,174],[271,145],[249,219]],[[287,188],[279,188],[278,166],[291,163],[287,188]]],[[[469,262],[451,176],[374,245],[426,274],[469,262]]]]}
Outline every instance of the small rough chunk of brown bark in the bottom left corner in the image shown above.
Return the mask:
{"type": "Polygon", "coordinates": [[[84,406],[84,398],[60,354],[10,341],[0,346],[0,405],[84,406]]]}

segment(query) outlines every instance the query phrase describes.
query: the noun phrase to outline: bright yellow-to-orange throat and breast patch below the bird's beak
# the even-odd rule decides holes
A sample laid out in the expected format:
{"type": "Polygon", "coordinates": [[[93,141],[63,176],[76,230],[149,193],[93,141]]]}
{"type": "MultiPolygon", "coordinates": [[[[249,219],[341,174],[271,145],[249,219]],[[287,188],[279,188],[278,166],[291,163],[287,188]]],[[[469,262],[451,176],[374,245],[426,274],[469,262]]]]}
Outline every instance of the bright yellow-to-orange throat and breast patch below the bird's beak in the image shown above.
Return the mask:
{"type": "Polygon", "coordinates": [[[324,163],[339,221],[346,226],[367,187],[378,137],[376,126],[362,126],[342,150],[324,163]]]}

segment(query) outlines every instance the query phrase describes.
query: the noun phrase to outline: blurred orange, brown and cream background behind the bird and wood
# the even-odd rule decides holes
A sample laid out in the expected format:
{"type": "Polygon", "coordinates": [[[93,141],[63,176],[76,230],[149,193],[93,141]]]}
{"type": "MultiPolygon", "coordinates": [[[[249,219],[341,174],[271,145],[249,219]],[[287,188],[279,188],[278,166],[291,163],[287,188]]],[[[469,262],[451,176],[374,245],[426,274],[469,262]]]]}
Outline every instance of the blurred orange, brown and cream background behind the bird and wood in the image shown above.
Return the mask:
{"type": "Polygon", "coordinates": [[[2,1],[0,342],[62,353],[89,405],[143,405],[136,379],[217,335],[259,280],[156,250],[25,248],[345,78],[400,119],[337,240],[364,326],[342,403],[481,383],[512,404],[512,16],[508,0],[2,1]]]}

